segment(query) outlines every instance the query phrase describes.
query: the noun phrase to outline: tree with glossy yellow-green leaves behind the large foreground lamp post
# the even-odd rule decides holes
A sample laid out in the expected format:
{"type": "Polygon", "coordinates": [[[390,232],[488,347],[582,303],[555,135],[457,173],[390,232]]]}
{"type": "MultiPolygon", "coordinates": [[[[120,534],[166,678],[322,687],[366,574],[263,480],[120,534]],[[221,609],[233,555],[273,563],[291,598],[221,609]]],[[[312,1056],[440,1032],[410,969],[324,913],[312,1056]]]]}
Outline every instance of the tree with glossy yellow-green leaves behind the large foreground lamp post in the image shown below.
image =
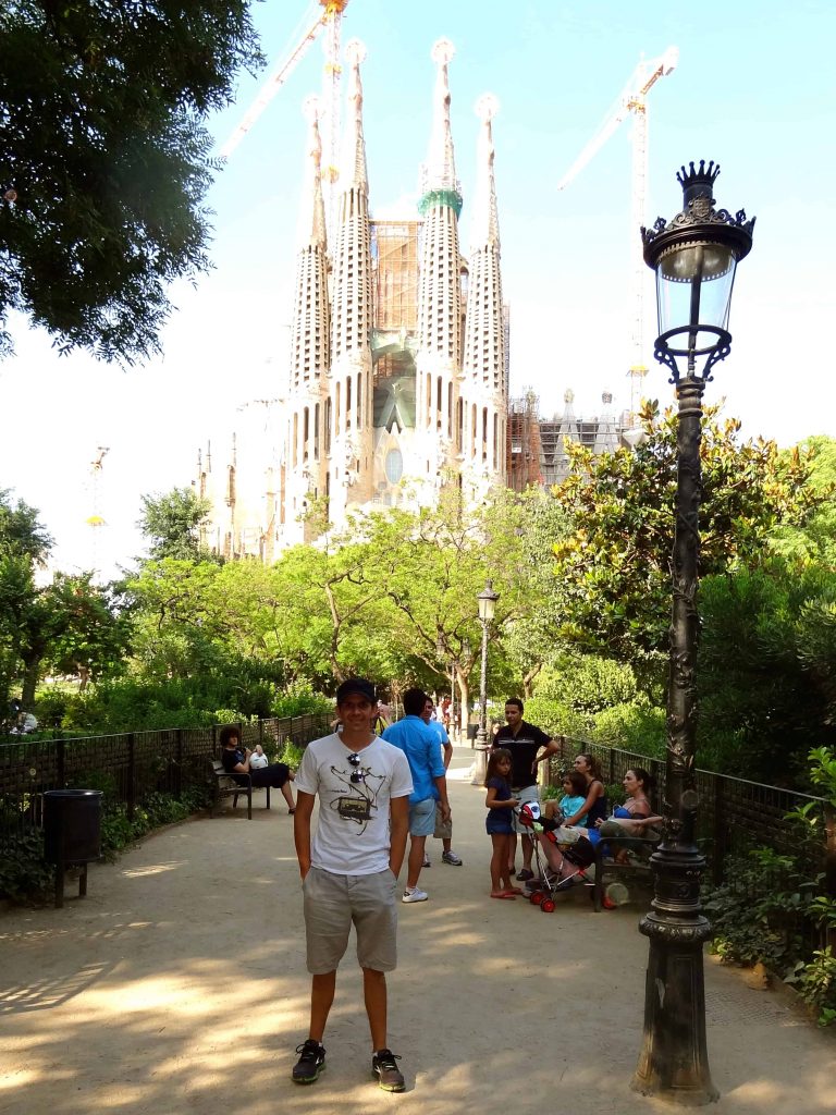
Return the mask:
{"type": "MultiPolygon", "coordinates": [[[[647,403],[635,452],[594,456],[570,446],[572,475],[555,498],[573,529],[555,545],[562,640],[631,662],[659,695],[670,623],[677,417],[647,403]]],[[[810,458],[774,442],[741,443],[736,419],[706,409],[701,447],[700,575],[757,565],[776,526],[800,525],[827,497],[810,458]]]]}

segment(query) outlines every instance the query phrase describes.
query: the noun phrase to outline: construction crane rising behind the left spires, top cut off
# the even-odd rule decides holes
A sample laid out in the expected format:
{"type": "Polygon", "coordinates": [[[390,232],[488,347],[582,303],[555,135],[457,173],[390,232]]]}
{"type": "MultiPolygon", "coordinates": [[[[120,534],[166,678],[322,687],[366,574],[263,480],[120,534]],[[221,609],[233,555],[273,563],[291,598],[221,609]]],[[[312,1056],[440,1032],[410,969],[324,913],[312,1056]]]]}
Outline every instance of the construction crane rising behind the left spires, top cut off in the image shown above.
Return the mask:
{"type": "Polygon", "coordinates": [[[325,194],[325,212],[329,214],[329,226],[333,210],[333,198],[336,196],[336,183],[339,176],[337,147],[340,132],[340,77],[342,67],[340,66],[340,30],[342,13],[348,7],[349,0],[318,0],[313,3],[303,17],[301,35],[294,35],[293,46],[284,60],[276,67],[268,78],[261,90],[244,115],[239,126],[221,148],[221,157],[227,159],[237,145],[252,128],[261,114],[268,107],[279,89],[284,85],[290,75],[304,57],[308,48],[317,36],[324,31],[322,49],[325,56],[325,65],[322,71],[322,99],[320,115],[320,134],[323,138],[323,151],[328,159],[323,168],[323,188],[325,194]],[[321,9],[318,13],[317,9],[321,9]],[[312,20],[312,22],[311,22],[312,20]]]}

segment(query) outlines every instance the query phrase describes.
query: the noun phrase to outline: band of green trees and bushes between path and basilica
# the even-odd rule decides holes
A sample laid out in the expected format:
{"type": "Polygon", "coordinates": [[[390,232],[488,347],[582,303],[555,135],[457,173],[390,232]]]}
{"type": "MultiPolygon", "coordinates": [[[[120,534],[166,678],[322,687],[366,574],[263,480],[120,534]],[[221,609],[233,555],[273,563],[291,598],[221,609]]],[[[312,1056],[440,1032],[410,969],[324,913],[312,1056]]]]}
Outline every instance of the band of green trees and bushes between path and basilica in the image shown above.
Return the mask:
{"type": "MultiPolygon", "coordinates": [[[[0,497],[0,681],[52,730],[201,726],[327,708],[351,673],[388,699],[409,685],[473,707],[490,579],[488,697],[523,696],[553,734],[664,749],[675,418],[642,411],[644,442],[592,457],[551,492],[436,510],[357,512],[272,565],[201,550],[206,506],[146,496],[149,556],[119,584],[58,574],[37,512],[0,497]],[[46,677],[51,677],[45,683],[46,677]]],[[[706,419],[699,763],[806,787],[810,746],[836,730],[836,452],[742,443],[706,419]]]]}

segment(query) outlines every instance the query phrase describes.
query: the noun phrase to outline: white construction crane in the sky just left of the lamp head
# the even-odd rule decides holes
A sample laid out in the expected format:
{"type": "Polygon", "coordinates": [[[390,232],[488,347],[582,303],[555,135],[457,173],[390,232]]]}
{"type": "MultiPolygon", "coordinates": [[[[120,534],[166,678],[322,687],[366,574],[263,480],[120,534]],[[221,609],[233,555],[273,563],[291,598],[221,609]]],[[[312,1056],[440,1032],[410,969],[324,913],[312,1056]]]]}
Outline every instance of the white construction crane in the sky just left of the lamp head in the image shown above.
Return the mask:
{"type": "Polygon", "coordinates": [[[644,260],[642,256],[639,229],[645,221],[645,197],[648,180],[648,105],[647,97],[657,81],[668,77],[679,62],[679,48],[668,47],[659,58],[642,59],[630,75],[628,84],[604,118],[604,123],[586,144],[570,169],[557,183],[564,190],[573,178],[604,146],[619,125],[632,113],[632,188],[630,205],[630,235],[633,248],[631,306],[632,306],[632,359],[630,361],[630,411],[635,414],[641,382],[648,372],[644,363],[644,260]]]}

